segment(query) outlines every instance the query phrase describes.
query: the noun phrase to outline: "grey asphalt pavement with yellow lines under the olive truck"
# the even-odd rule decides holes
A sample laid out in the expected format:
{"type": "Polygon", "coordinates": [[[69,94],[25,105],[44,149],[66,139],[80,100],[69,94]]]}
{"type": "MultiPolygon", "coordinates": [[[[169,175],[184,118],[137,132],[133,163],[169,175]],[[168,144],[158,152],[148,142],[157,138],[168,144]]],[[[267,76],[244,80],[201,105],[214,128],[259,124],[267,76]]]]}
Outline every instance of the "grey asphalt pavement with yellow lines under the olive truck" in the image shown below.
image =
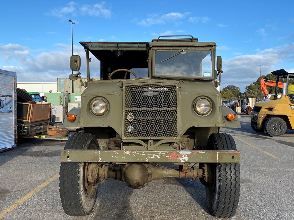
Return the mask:
{"type": "MultiPolygon", "coordinates": [[[[240,201],[231,220],[293,220],[294,131],[273,138],[253,131],[249,115],[237,117],[241,129],[221,128],[234,137],[241,152],[240,201]]],[[[104,180],[93,211],[84,217],[68,216],[61,206],[58,186],[64,144],[18,139],[16,149],[0,153],[0,219],[219,219],[208,211],[205,187],[183,178],[153,180],[142,189],[104,180]]]]}

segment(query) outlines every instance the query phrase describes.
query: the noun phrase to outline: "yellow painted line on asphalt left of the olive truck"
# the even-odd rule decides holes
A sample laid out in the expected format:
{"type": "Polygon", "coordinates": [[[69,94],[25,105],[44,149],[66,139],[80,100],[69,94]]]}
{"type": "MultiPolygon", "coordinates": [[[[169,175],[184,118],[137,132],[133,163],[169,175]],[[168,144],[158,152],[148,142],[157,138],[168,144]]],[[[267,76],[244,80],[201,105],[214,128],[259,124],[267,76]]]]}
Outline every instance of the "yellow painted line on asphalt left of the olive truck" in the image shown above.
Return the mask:
{"type": "Polygon", "coordinates": [[[56,174],[55,176],[53,176],[52,178],[48,179],[47,181],[45,181],[44,183],[42,183],[41,185],[39,185],[37,188],[34,188],[31,192],[29,192],[28,194],[26,194],[25,196],[23,196],[22,198],[18,199],[18,201],[16,201],[15,203],[13,203],[11,206],[9,206],[7,209],[4,209],[1,213],[0,213],[0,218],[3,218],[4,216],[6,216],[7,214],[9,214],[13,209],[15,209],[16,207],[18,207],[20,204],[22,204],[24,201],[28,200],[29,198],[31,198],[35,193],[37,193],[39,190],[41,190],[42,188],[44,188],[45,186],[47,186],[49,183],[51,183],[53,180],[57,179],[59,176],[59,173],[56,174]]]}

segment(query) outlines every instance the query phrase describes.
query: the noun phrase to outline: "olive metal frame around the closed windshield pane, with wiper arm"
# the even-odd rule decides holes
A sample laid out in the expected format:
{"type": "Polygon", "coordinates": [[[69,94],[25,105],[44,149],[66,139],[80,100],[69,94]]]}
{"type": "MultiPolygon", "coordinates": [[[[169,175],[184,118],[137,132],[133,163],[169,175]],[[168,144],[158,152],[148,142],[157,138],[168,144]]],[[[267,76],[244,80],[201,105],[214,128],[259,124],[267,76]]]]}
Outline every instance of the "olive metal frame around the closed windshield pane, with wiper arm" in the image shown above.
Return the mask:
{"type": "MultiPolygon", "coordinates": [[[[151,65],[151,77],[159,77],[159,78],[173,78],[173,79],[202,79],[202,80],[215,80],[216,76],[215,76],[215,49],[214,48],[207,48],[207,47],[202,47],[202,48],[191,48],[191,47],[165,47],[165,48],[159,48],[159,47],[153,47],[152,48],[152,65],[151,65]],[[180,53],[180,51],[210,51],[211,53],[211,77],[203,77],[203,76],[175,76],[175,75],[159,75],[156,74],[155,72],[155,52],[157,51],[172,51],[174,52],[173,55],[176,54],[176,56],[180,53]]],[[[171,56],[171,57],[167,57],[167,59],[165,60],[170,60],[173,59],[175,56],[171,56]]],[[[162,60],[160,60],[159,62],[161,62],[162,60]]],[[[164,61],[165,62],[165,61],[164,61]]],[[[163,62],[163,63],[164,63],[163,62]]],[[[162,63],[162,62],[161,62],[162,63]]]]}

